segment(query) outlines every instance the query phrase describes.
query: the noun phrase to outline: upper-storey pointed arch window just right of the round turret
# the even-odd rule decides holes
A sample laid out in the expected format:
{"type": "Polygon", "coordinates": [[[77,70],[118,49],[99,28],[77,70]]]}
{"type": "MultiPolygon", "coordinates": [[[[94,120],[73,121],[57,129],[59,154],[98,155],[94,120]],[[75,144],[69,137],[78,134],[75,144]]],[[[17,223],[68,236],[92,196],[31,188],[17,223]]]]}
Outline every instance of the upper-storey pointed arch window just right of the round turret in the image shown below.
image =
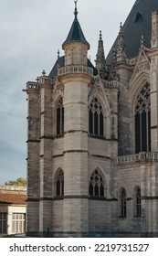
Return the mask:
{"type": "Polygon", "coordinates": [[[103,112],[100,101],[93,99],[89,108],[89,133],[92,135],[103,136],[104,122],[103,112]]]}

